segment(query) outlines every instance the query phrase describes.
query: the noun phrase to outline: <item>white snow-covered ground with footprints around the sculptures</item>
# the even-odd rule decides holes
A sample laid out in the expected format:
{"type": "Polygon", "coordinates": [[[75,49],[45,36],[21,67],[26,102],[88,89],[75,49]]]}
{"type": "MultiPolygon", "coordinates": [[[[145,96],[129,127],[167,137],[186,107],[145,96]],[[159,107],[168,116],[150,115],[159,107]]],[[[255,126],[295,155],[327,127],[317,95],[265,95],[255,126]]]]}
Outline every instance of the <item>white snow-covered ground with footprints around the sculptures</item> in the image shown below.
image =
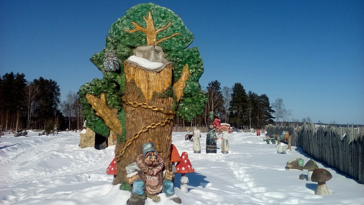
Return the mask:
{"type": "MultiPolygon", "coordinates": [[[[0,138],[0,204],[126,204],[130,193],[111,185],[113,177],[106,174],[115,146],[81,149],[79,132],[38,133],[0,138]]],[[[202,133],[202,153],[194,154],[185,135],[173,133],[179,154],[186,151],[195,169],[187,174],[188,193],[178,188],[181,175],[176,176],[175,193],[182,204],[364,204],[364,185],[321,162],[318,166],[333,175],[327,182],[329,196],[314,194],[317,183],[298,179],[307,170],[286,170],[286,162],[292,158],[302,158],[305,163],[311,159],[299,147],[277,154],[275,144],[262,141],[263,134],[234,132],[229,134],[229,154],[220,152],[221,140],[217,154],[206,154],[206,133],[202,133]]],[[[164,194],[160,196],[159,205],[175,204],[164,194]]],[[[146,204],[156,203],[147,199],[146,204]]]]}

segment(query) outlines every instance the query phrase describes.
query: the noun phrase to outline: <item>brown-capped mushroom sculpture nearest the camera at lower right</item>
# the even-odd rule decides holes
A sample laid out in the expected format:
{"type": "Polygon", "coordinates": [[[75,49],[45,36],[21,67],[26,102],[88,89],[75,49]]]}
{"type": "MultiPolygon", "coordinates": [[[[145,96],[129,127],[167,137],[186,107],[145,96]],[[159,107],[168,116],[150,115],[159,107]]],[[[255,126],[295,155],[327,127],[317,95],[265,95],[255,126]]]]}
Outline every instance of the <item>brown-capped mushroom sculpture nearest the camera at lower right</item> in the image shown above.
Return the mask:
{"type": "Polygon", "coordinates": [[[313,170],[311,180],[317,182],[317,195],[330,195],[329,189],[326,186],[326,181],[332,178],[331,173],[325,169],[315,169],[313,170]]]}

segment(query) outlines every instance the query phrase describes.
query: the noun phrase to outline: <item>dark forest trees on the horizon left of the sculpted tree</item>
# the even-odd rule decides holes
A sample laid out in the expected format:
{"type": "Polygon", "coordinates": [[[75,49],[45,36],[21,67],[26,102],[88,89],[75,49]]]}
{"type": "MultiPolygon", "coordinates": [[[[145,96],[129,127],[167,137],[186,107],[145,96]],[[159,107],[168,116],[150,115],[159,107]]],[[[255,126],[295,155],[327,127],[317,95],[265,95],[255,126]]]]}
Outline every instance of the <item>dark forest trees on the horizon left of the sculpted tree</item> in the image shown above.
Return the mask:
{"type": "Polygon", "coordinates": [[[82,108],[76,93],[60,102],[60,88],[52,79],[28,82],[24,73],[5,73],[0,78],[0,126],[21,129],[80,129],[82,108]]]}

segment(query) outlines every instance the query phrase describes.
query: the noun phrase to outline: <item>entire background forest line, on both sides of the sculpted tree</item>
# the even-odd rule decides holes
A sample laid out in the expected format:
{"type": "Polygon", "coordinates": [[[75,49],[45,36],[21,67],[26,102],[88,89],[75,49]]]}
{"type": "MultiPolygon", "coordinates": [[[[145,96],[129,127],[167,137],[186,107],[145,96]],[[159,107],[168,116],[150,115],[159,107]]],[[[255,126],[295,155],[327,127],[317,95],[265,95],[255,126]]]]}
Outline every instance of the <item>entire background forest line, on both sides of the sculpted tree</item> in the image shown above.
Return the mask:
{"type": "MultiPolygon", "coordinates": [[[[262,128],[276,119],[286,120],[290,111],[284,108],[280,98],[270,106],[266,94],[258,95],[237,82],[232,88],[221,88],[217,80],[210,81],[205,90],[208,101],[201,113],[191,121],[176,118],[174,124],[181,126],[207,126],[209,112],[214,112],[221,123],[235,128],[262,128]]],[[[79,96],[68,92],[60,102],[60,88],[52,79],[34,79],[28,82],[25,74],[6,73],[0,78],[0,125],[3,130],[53,128],[60,130],[81,129],[82,106],[79,96]]]]}

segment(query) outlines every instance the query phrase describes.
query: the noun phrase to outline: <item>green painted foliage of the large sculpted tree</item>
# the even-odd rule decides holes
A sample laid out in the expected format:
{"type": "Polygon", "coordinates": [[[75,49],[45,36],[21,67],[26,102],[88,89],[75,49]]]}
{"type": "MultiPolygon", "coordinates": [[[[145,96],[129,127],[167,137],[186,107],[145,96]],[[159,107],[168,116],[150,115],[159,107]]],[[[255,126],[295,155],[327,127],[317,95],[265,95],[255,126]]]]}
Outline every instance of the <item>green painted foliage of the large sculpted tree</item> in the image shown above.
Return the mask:
{"type": "MultiPolygon", "coordinates": [[[[95,115],[95,111],[86,100],[86,93],[94,94],[95,96],[99,96],[100,93],[107,93],[106,99],[109,107],[118,109],[119,115],[123,115],[120,98],[125,87],[125,74],[122,72],[123,62],[133,54],[133,49],[138,46],[145,46],[147,43],[144,32],[130,33],[125,30],[132,30],[135,27],[131,22],[135,22],[141,27],[146,27],[143,16],[147,16],[148,11],[153,14],[155,28],[165,27],[169,22],[172,22],[168,29],[157,34],[157,39],[173,35],[176,32],[180,34],[158,44],[165,51],[167,60],[173,64],[174,82],[177,82],[179,77],[181,77],[183,66],[186,63],[189,64],[190,78],[186,81],[186,87],[183,90],[184,96],[181,97],[177,105],[177,116],[185,120],[192,120],[203,111],[206,104],[206,94],[201,91],[201,86],[198,83],[203,73],[201,56],[197,47],[186,49],[194,39],[193,34],[187,29],[181,18],[170,9],[152,3],[138,4],[130,8],[125,16],[111,25],[108,31],[109,36],[106,36],[104,50],[90,58],[91,62],[103,72],[103,78],[101,80],[94,79],[83,85],[78,92],[81,97],[83,115],[86,119],[87,127],[105,137],[108,136],[109,129],[104,121],[95,115]],[[103,61],[105,50],[107,49],[115,52],[121,72],[110,74],[104,70],[103,61]]],[[[123,117],[120,117],[120,120],[123,120],[123,117]]]]}

